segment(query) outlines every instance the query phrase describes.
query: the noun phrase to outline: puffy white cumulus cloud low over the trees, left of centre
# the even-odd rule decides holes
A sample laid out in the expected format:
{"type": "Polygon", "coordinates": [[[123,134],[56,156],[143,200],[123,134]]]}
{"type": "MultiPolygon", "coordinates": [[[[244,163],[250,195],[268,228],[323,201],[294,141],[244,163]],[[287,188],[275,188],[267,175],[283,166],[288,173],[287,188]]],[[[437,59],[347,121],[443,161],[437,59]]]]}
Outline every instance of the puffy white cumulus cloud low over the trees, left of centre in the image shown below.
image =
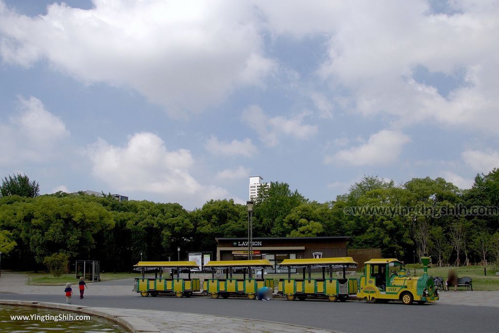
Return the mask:
{"type": "Polygon", "coordinates": [[[165,200],[184,199],[190,204],[229,194],[224,188],[199,183],[190,174],[194,165],[191,152],[170,151],[153,133],[136,133],[123,147],[99,139],[89,146],[88,156],[94,176],[123,193],[156,193],[165,200]]]}

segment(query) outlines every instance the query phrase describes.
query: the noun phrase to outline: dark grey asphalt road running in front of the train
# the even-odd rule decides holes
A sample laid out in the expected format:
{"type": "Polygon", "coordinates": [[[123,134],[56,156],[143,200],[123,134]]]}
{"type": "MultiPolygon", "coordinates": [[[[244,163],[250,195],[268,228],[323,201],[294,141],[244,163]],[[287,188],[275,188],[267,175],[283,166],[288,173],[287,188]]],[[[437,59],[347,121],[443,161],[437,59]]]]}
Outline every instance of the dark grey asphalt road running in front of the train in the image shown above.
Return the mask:
{"type": "MultiPolygon", "coordinates": [[[[100,286],[131,286],[131,281],[101,282],[100,286]]],[[[123,290],[123,289],[121,289],[123,290]]],[[[337,332],[498,332],[498,308],[425,304],[404,306],[400,303],[367,304],[348,301],[330,303],[322,300],[269,302],[247,299],[209,297],[140,297],[130,290],[117,295],[92,295],[83,300],[73,297],[73,304],[94,307],[149,309],[207,315],[269,320],[337,332]]],[[[107,293],[106,293],[107,294],[107,293]]],[[[0,299],[65,302],[64,295],[0,294],[0,299]]]]}

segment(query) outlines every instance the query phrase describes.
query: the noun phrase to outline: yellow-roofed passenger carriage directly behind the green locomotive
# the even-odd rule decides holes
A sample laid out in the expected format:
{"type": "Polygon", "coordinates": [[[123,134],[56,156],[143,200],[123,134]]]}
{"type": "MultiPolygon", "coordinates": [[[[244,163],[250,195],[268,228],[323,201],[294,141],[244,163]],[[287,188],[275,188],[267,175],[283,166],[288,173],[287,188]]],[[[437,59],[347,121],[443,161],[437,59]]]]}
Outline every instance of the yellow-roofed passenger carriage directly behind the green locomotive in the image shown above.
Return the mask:
{"type": "Polygon", "coordinates": [[[279,266],[287,267],[287,279],[279,279],[278,294],[286,296],[288,301],[307,297],[327,298],[331,302],[344,302],[350,295],[357,293],[357,279],[346,277],[347,268],[356,268],[352,257],[317,258],[317,259],[285,259],[279,266]],[[302,279],[291,279],[291,269],[302,269],[302,279]],[[342,278],[333,278],[333,268],[342,270],[342,278]],[[312,279],[312,269],[320,269],[322,278],[312,279]],[[326,269],[328,277],[326,278],[326,269]],[[308,277],[306,277],[308,272],[308,277]]]}

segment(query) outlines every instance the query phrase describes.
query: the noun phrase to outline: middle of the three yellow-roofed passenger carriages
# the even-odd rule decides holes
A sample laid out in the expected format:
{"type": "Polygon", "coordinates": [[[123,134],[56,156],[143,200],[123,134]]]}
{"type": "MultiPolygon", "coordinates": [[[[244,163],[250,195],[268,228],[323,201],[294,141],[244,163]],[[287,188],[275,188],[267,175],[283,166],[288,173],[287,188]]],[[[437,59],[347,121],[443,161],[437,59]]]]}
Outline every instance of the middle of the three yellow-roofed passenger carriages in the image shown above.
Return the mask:
{"type": "Polygon", "coordinates": [[[256,291],[264,286],[273,290],[273,279],[255,279],[253,277],[253,270],[261,270],[263,277],[263,270],[266,267],[271,267],[272,264],[268,260],[234,260],[234,261],[210,261],[204,267],[211,270],[212,278],[205,279],[203,285],[203,292],[216,299],[229,298],[234,295],[242,295],[248,297],[250,300],[256,298],[256,291]],[[215,272],[218,269],[225,270],[225,279],[215,278],[215,272]],[[234,278],[235,270],[243,272],[243,279],[234,278]]]}

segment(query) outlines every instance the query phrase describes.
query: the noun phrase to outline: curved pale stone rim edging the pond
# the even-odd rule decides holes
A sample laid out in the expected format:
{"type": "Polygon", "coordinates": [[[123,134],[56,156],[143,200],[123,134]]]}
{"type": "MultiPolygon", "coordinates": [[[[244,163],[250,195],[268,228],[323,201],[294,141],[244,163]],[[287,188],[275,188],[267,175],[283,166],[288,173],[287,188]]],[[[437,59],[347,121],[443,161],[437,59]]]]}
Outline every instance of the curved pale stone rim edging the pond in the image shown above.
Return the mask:
{"type": "Polygon", "coordinates": [[[0,300],[0,304],[23,306],[32,308],[45,308],[45,309],[58,309],[65,311],[72,311],[86,315],[102,317],[117,323],[132,333],[159,333],[161,332],[151,323],[129,315],[122,315],[119,311],[110,308],[94,308],[79,305],[49,303],[49,302],[36,302],[36,301],[13,301],[13,300],[0,300]]]}

